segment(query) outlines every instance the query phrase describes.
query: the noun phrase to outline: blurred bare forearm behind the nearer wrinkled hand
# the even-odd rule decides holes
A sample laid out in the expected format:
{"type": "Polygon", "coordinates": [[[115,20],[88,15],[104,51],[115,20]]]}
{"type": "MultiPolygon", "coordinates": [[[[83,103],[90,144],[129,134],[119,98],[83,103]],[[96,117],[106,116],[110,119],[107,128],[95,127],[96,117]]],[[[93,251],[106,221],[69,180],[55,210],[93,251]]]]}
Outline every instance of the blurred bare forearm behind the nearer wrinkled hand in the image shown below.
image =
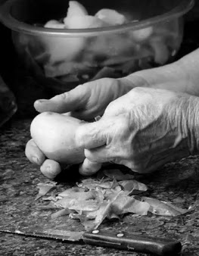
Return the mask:
{"type": "Polygon", "coordinates": [[[145,86],[199,96],[199,49],[173,64],[141,70],[126,76],[132,88],[145,86]],[[135,83],[136,80],[136,83],[135,83]],[[133,83],[131,83],[133,81],[133,83]]]}

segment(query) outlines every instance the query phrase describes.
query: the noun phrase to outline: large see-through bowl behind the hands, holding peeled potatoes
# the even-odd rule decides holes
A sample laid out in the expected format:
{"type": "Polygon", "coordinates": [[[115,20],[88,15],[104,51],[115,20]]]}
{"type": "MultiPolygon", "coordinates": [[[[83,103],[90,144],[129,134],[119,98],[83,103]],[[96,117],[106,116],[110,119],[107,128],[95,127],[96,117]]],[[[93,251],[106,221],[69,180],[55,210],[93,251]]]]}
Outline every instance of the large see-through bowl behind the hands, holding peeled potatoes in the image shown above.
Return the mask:
{"type": "Polygon", "coordinates": [[[101,77],[121,77],[173,61],[183,37],[183,15],[194,0],[83,0],[90,15],[118,11],[127,22],[84,29],[45,28],[63,20],[66,0],[8,0],[0,19],[13,33],[24,67],[54,93],[101,77]]]}

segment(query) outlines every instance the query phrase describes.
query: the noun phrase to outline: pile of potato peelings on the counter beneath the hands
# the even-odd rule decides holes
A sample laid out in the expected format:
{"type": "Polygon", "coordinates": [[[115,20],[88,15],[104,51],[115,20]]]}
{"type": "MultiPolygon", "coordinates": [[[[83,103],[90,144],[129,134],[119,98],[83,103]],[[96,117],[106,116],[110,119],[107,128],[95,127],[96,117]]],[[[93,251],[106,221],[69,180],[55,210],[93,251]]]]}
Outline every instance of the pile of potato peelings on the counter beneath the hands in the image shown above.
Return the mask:
{"type": "Polygon", "coordinates": [[[36,200],[50,201],[40,205],[40,209],[58,209],[51,218],[68,215],[80,220],[87,231],[97,229],[104,219],[121,219],[123,214],[147,215],[148,212],[160,216],[174,217],[185,214],[190,208],[177,208],[168,202],[143,196],[148,187],[134,180],[131,174],[120,170],[104,170],[101,180],[87,178],[57,195],[45,197],[56,189],[56,183],[39,183],[36,200]]]}

